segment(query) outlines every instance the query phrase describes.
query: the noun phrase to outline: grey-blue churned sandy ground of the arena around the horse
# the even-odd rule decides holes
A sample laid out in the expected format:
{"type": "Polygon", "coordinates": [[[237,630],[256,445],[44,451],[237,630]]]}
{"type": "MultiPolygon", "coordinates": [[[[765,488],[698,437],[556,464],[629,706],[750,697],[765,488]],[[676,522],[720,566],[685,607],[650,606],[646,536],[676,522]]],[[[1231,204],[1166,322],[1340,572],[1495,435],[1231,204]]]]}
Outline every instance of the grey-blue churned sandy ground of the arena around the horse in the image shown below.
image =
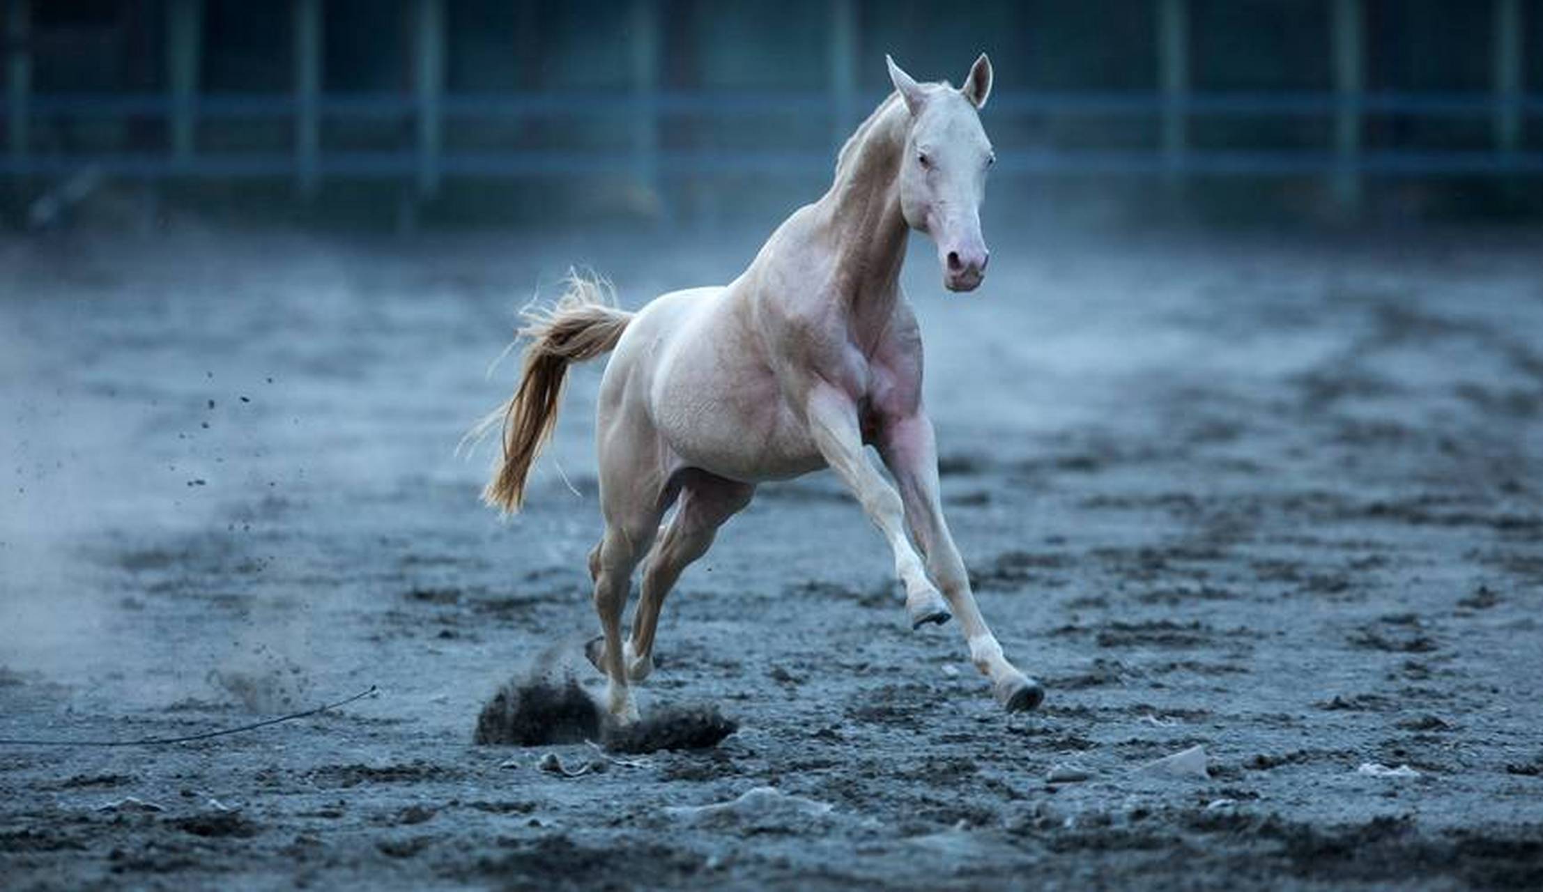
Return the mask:
{"type": "Polygon", "coordinates": [[[819,474],[665,608],[643,710],[741,730],[579,778],[471,735],[511,673],[594,681],[597,369],[522,517],[452,451],[569,262],[639,304],[761,233],[0,242],[0,738],[380,687],[0,745],[0,884],[1543,884],[1538,239],[992,235],[981,292],[930,250],[907,282],[955,537],[1045,707],[906,627],[819,474]],[[1137,770],[1193,745],[1207,778],[1137,770]]]}

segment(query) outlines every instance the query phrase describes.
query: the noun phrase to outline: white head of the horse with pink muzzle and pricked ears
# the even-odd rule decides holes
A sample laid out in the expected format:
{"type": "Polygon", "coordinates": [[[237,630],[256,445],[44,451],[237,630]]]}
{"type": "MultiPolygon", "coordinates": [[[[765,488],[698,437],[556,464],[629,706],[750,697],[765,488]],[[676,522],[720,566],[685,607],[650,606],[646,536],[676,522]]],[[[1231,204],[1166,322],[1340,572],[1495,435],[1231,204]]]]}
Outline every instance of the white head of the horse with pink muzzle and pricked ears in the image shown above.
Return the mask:
{"type": "Polygon", "coordinates": [[[887,56],[889,77],[910,111],[910,131],[900,162],[900,207],[906,224],[932,236],[943,265],[943,286],[971,292],[986,278],[986,239],[980,202],[986,168],[995,160],[980,125],[991,96],[991,60],[981,52],[964,86],[917,83],[887,56]]]}

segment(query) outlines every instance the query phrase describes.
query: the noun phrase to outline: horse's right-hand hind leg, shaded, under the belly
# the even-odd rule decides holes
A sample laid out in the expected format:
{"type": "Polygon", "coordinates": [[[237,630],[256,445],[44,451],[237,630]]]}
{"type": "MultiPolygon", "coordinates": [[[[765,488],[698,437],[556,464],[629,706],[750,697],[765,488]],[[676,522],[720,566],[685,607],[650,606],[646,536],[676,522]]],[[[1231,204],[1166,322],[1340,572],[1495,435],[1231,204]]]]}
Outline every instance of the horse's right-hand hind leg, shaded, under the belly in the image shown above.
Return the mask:
{"type": "Polygon", "coordinates": [[[705,471],[687,471],[680,486],[680,508],[663,529],[643,569],[643,593],[633,614],[633,637],[626,642],[626,674],[640,682],[654,667],[654,631],[665,596],[680,573],[713,545],[717,528],[738,514],[756,488],[705,471]]]}

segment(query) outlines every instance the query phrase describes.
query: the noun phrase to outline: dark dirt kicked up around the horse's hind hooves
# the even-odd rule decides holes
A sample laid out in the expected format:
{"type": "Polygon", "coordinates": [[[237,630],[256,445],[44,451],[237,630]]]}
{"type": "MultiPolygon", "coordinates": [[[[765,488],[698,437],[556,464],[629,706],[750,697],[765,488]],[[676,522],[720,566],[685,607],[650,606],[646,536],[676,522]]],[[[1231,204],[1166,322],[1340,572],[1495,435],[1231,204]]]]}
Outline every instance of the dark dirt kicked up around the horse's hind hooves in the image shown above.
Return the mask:
{"type": "Polygon", "coordinates": [[[572,676],[546,674],[505,682],[477,716],[475,744],[535,747],[599,741],[620,753],[702,750],[739,730],[717,707],[659,707],[640,721],[616,725],[572,676]]]}

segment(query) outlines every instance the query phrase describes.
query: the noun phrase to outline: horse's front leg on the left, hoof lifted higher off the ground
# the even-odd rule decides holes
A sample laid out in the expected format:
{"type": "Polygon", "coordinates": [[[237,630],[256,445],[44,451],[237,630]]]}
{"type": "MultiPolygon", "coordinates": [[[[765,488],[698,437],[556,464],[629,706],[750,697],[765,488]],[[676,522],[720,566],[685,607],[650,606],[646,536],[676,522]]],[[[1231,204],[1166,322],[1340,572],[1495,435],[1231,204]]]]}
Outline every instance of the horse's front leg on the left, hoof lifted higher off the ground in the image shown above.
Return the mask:
{"type": "Polygon", "coordinates": [[[895,552],[895,576],[906,586],[906,613],[912,628],[949,620],[949,608],[927,579],[921,557],[906,539],[904,506],[895,488],[863,452],[856,403],[830,386],[818,386],[809,397],[809,429],[819,454],[847,485],[869,520],[878,526],[895,552]]]}

